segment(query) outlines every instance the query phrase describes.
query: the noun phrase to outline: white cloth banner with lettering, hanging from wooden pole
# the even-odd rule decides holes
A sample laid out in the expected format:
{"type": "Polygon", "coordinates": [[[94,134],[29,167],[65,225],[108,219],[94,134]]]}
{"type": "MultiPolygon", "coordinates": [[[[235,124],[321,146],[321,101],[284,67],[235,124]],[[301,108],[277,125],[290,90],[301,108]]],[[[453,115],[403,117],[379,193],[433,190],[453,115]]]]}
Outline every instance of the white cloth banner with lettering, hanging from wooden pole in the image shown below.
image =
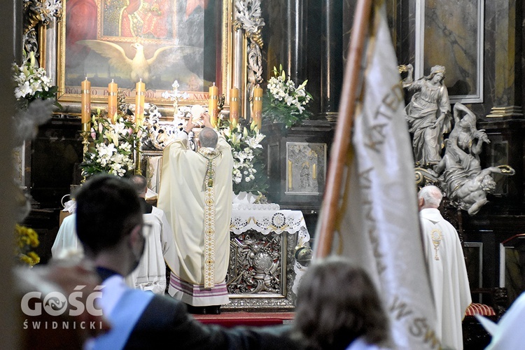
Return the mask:
{"type": "Polygon", "coordinates": [[[363,99],[332,251],[342,248],[372,276],[395,349],[438,349],[401,78],[384,6],[372,13],[363,99]]]}

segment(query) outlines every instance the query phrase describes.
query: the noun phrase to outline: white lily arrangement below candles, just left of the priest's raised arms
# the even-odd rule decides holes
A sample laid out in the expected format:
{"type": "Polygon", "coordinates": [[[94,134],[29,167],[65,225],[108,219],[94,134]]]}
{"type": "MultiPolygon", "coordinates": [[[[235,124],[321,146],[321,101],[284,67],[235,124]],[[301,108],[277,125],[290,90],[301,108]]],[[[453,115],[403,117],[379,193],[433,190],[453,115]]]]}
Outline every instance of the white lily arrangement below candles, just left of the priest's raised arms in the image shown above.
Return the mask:
{"type": "Polygon", "coordinates": [[[93,145],[80,164],[82,175],[108,173],[126,176],[135,167],[134,150],[144,133],[144,126],[136,125],[132,116],[118,114],[112,123],[100,111],[92,116],[93,145]]]}

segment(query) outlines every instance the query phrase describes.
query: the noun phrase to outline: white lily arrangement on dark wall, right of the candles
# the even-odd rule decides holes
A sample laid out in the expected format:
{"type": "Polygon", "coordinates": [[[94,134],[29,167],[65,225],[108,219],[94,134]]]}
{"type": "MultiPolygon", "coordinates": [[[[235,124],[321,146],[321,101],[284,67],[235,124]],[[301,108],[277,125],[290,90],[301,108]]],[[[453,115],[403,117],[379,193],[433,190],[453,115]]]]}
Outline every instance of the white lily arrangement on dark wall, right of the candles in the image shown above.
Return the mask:
{"type": "Polygon", "coordinates": [[[262,104],[262,117],[274,123],[284,123],[286,127],[308,119],[311,112],[307,110],[307,105],[311,101],[311,94],[306,90],[307,83],[308,80],[304,80],[295,87],[289,77],[286,80],[282,65],[279,65],[279,70],[274,67],[274,76],[268,80],[267,95],[262,104]]]}

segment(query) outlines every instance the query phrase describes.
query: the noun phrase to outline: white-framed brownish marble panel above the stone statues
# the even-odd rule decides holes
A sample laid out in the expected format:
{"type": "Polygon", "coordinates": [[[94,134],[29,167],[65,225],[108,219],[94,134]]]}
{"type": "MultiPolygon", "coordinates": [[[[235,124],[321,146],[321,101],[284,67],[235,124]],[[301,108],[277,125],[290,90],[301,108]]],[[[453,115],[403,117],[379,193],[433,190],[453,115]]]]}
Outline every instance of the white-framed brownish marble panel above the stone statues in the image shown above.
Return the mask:
{"type": "Polygon", "coordinates": [[[416,2],[414,78],[446,68],[450,102],[483,102],[484,0],[416,2]]]}

